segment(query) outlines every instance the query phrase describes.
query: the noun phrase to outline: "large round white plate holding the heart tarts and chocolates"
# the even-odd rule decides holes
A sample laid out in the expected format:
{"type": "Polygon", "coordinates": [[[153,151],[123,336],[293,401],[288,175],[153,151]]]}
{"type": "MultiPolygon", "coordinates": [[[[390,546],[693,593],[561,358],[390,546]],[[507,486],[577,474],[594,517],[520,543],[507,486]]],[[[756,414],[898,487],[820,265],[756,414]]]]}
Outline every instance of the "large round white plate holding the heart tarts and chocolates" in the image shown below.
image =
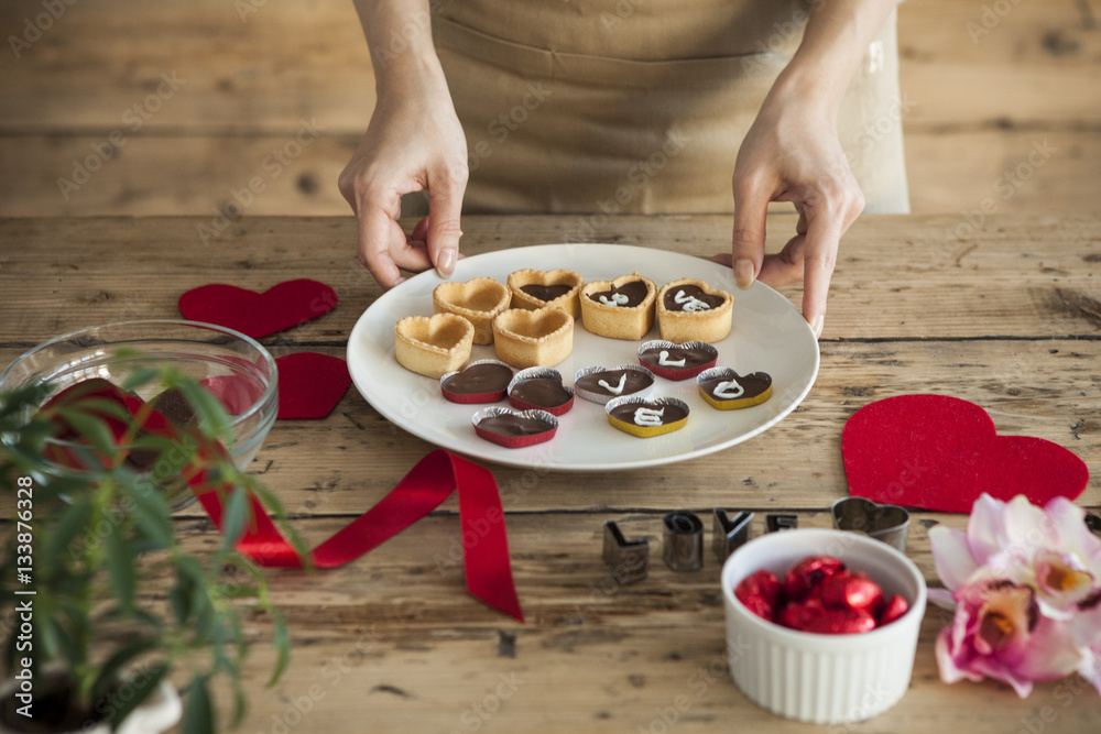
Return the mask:
{"type": "MultiPolygon", "coordinates": [[[[479,275],[502,283],[524,267],[568,269],[586,282],[606,281],[637,271],[658,287],[682,277],[706,281],[731,293],[733,329],[716,347],[719,366],[741,374],[767,372],[773,395],[761,405],[716,410],[699,395],[695,380],[657,379],[651,397],[673,396],[688,403],[688,424],[654,438],[637,438],[613,428],[602,405],[578,397],[562,416],[557,435],[546,443],[506,449],[478,437],[470,417],[484,405],[444,399],[439,382],[410,372],[394,359],[394,324],[403,316],[430,316],[432,291],[442,283],[426,272],[402,283],[371,304],[348,339],[348,369],[356,387],[374,408],[400,428],[426,441],[469,457],[513,467],[558,471],[637,469],[693,459],[729,448],[775,426],[803,402],[818,374],[818,341],[803,316],[772,288],[756,283],[739,291],[729,267],[700,258],[617,244],[544,244],[513,248],[458,262],[451,280],[479,275]]],[[[639,346],[657,339],[657,324],[645,339],[623,341],[574,328],[574,351],[556,369],[567,384],[582,366],[637,363],[639,346]]],[[[471,360],[492,359],[492,344],[475,346],[471,360]]],[[[508,406],[508,402],[495,405],[508,406]]]]}

